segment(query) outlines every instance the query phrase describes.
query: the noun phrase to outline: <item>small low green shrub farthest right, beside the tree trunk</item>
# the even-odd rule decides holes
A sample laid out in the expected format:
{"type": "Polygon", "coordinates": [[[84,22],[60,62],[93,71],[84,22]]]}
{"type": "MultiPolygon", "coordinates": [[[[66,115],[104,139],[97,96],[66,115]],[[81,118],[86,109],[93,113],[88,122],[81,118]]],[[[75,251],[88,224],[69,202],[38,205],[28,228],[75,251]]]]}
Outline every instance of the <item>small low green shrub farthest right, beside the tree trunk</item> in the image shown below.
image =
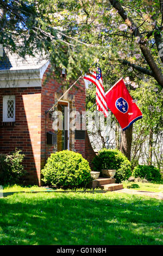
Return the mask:
{"type": "Polygon", "coordinates": [[[145,164],[136,166],[133,170],[133,175],[135,178],[145,178],[148,181],[159,181],[161,179],[159,169],[154,166],[146,166],[145,164]]]}

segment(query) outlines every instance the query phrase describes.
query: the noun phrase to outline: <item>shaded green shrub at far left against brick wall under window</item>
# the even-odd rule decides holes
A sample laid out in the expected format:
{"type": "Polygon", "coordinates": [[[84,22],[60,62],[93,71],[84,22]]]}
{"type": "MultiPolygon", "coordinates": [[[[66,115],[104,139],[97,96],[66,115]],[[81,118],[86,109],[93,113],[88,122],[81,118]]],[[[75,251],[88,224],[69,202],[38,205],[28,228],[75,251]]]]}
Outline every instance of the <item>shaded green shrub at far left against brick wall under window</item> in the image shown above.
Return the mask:
{"type": "Polygon", "coordinates": [[[26,174],[22,161],[24,155],[21,150],[15,150],[10,154],[0,154],[0,184],[10,184],[20,182],[21,177],[26,174]]]}

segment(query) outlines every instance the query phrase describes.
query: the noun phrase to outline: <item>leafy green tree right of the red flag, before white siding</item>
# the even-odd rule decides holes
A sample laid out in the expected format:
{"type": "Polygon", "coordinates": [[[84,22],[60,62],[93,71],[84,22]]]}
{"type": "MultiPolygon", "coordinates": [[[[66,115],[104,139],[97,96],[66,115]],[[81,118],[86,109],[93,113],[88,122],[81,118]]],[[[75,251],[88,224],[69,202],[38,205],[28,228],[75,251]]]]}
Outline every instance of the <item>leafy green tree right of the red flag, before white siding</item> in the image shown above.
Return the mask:
{"type": "Polygon", "coordinates": [[[138,163],[143,144],[148,142],[146,157],[149,165],[152,164],[152,155],[156,157],[156,164],[160,168],[161,155],[156,151],[159,137],[162,136],[162,90],[156,86],[154,79],[140,81],[140,86],[133,90],[131,94],[137,99],[143,118],[140,125],[135,123],[134,139],[132,144],[131,162],[133,166],[138,163]]]}

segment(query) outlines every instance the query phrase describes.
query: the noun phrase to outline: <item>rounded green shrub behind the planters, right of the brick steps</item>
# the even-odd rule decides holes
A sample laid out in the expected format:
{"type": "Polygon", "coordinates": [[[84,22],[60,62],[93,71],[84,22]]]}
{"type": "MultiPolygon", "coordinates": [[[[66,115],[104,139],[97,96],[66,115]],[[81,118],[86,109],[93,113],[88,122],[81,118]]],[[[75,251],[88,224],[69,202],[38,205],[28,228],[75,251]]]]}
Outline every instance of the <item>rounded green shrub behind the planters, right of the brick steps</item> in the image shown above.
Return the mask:
{"type": "Polygon", "coordinates": [[[117,149],[102,149],[99,151],[98,155],[94,157],[93,169],[96,172],[101,172],[102,169],[116,169],[116,182],[121,182],[127,180],[131,175],[131,163],[124,156],[121,151],[117,149]]]}

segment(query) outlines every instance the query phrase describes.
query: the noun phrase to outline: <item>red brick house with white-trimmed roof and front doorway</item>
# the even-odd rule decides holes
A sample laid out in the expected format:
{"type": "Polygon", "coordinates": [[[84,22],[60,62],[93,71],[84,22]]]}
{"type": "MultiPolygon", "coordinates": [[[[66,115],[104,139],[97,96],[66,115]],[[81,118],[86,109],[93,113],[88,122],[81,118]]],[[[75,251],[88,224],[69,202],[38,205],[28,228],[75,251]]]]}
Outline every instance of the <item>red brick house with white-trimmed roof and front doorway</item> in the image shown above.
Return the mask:
{"type": "MultiPolygon", "coordinates": [[[[95,156],[87,131],[72,131],[71,113],[85,111],[85,83],[79,80],[58,103],[55,111],[64,115],[66,129],[54,131],[53,113],[47,112],[65,92],[55,77],[47,78],[48,59],[4,54],[0,62],[0,153],[15,148],[25,154],[27,184],[41,185],[41,169],[55,151],[73,150],[91,162],[95,156]]],[[[64,80],[64,77],[62,77],[64,80]]],[[[54,109],[53,109],[54,110],[54,109]]]]}

